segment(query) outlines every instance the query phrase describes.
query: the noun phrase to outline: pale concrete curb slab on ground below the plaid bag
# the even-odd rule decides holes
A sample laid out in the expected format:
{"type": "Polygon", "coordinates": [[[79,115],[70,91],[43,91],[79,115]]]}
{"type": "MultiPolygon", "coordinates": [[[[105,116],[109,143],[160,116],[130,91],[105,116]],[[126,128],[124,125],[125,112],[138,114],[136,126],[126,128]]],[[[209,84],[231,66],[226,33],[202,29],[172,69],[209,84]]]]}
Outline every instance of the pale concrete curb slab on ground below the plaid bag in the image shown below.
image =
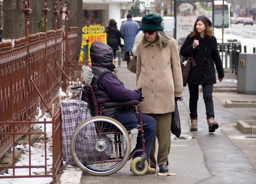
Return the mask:
{"type": "Polygon", "coordinates": [[[74,166],[67,165],[60,176],[60,184],[80,184],[83,171],[74,166]]]}

